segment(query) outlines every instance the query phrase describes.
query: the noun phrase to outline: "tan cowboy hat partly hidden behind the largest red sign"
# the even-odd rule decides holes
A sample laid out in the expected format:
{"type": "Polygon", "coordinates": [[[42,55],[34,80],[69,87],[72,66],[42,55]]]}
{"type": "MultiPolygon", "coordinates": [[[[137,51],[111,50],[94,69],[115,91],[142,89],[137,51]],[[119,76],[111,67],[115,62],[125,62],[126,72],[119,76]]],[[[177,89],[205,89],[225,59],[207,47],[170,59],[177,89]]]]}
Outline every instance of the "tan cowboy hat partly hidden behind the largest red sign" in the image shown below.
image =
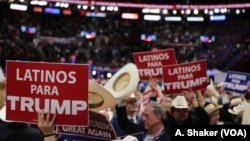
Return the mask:
{"type": "Polygon", "coordinates": [[[116,100],[108,90],[95,80],[89,80],[89,109],[93,111],[101,111],[115,106],[116,100]]]}

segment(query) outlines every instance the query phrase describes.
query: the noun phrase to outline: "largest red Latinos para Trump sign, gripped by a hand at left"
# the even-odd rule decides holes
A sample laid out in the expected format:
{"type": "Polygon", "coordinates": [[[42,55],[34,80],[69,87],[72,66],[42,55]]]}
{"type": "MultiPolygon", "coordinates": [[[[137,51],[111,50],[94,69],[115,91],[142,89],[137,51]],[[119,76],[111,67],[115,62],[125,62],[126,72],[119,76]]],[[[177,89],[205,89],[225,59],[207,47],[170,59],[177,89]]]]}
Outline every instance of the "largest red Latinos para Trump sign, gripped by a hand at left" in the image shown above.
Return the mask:
{"type": "Polygon", "coordinates": [[[6,119],[37,123],[37,112],[56,125],[88,125],[88,65],[7,61],[6,119]],[[18,116],[17,116],[18,115],[18,116]]]}

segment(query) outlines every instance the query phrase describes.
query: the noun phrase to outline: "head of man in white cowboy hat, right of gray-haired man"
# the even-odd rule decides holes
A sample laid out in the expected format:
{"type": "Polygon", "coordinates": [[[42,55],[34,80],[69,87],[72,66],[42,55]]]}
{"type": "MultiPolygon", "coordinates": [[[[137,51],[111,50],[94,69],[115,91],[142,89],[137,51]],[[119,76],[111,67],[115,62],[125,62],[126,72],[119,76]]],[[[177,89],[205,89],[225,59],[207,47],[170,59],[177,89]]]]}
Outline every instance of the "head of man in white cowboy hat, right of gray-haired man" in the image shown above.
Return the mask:
{"type": "Polygon", "coordinates": [[[185,96],[178,95],[172,101],[171,115],[177,124],[184,124],[188,119],[188,103],[185,96]]]}

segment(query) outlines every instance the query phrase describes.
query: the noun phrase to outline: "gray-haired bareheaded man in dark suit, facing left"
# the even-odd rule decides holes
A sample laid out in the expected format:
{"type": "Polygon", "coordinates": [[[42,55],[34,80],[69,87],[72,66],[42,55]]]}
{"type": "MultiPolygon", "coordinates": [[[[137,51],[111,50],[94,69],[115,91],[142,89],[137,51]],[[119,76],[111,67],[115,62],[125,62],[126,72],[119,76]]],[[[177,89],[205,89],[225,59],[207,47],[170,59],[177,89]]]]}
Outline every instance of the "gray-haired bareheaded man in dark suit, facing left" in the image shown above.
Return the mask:
{"type": "Polygon", "coordinates": [[[144,107],[143,122],[135,124],[127,118],[125,108],[116,106],[118,124],[129,134],[144,132],[144,140],[170,141],[169,129],[164,127],[166,110],[155,101],[150,101],[144,107]]]}

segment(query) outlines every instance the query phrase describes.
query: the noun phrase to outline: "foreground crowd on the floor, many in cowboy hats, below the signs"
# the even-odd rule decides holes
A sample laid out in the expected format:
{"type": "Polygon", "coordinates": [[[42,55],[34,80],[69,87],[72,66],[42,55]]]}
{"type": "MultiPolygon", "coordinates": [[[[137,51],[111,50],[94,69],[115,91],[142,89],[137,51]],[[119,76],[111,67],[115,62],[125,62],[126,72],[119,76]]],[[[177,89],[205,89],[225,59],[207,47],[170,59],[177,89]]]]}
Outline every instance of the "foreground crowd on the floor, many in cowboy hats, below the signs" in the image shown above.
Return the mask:
{"type": "MultiPolygon", "coordinates": [[[[150,78],[150,98],[142,104],[143,93],[137,88],[128,97],[118,100],[114,107],[100,110],[113,126],[117,137],[144,133],[144,141],[170,141],[181,127],[209,125],[250,125],[250,91],[246,95],[227,92],[221,84],[208,83],[205,90],[183,91],[177,95],[162,95],[158,79],[150,78]],[[159,101],[162,97],[164,102],[159,101]],[[141,105],[138,107],[138,104],[141,105]],[[108,113],[109,112],[109,113],[108,113]],[[108,113],[108,114],[107,114],[108,113]]],[[[38,111],[36,126],[5,119],[6,79],[0,81],[0,139],[56,141],[56,115],[38,111]]],[[[91,110],[91,109],[90,109],[91,110]]]]}

